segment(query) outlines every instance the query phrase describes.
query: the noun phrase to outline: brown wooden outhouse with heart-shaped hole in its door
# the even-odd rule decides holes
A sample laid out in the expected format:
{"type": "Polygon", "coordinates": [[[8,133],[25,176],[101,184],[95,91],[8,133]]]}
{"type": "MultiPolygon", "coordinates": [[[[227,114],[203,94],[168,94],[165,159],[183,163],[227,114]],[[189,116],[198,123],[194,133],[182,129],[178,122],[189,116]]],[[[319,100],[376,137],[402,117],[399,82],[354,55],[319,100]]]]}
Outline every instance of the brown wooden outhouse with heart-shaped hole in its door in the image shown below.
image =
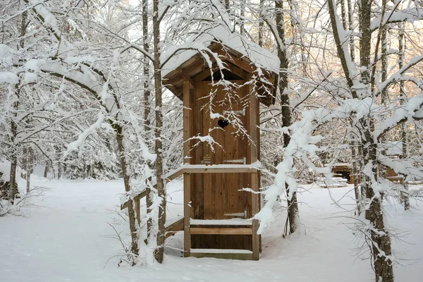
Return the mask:
{"type": "MultiPolygon", "coordinates": [[[[209,50],[219,63],[185,55],[163,78],[184,107],[184,164],[173,175],[184,178],[185,256],[259,259],[259,103],[274,103],[276,73],[233,47],[209,50]]],[[[262,51],[254,56],[273,56],[262,51]]]]}

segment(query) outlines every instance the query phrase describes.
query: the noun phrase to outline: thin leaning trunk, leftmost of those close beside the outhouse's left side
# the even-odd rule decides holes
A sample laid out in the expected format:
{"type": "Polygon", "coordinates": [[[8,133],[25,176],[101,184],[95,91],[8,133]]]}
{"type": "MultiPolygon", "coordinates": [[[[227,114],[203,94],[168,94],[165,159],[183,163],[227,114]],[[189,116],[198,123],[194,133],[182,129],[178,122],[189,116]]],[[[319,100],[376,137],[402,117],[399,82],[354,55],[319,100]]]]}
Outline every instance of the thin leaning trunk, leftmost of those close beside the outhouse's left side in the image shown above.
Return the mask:
{"type": "MultiPolygon", "coordinates": [[[[116,125],[116,124],[112,126],[114,126],[114,129],[116,132],[116,141],[118,142],[118,152],[119,152],[119,159],[121,161],[123,184],[125,185],[125,192],[130,192],[130,176],[126,168],[125,147],[123,145],[123,128],[121,125],[116,125]]],[[[135,257],[137,257],[139,249],[138,249],[137,218],[135,216],[134,201],[130,201],[130,204],[128,204],[128,217],[129,217],[129,229],[130,229],[130,238],[131,238],[130,252],[132,253],[132,255],[134,255],[133,261],[131,263],[135,265],[137,263],[135,257]]]]}

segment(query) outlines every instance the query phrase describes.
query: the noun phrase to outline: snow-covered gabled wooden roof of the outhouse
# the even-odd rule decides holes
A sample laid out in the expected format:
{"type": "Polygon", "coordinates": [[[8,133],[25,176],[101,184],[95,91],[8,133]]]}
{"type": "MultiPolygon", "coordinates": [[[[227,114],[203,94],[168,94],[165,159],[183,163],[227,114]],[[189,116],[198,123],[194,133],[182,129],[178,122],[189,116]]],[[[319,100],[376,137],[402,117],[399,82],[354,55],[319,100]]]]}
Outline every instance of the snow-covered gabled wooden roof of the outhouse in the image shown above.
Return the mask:
{"type": "Polygon", "coordinates": [[[166,49],[161,62],[164,63],[161,71],[164,86],[180,99],[185,78],[195,78],[210,66],[217,71],[235,65],[255,75],[260,101],[267,106],[274,104],[278,57],[223,27],[215,27],[202,35],[190,37],[184,44],[166,49]]]}

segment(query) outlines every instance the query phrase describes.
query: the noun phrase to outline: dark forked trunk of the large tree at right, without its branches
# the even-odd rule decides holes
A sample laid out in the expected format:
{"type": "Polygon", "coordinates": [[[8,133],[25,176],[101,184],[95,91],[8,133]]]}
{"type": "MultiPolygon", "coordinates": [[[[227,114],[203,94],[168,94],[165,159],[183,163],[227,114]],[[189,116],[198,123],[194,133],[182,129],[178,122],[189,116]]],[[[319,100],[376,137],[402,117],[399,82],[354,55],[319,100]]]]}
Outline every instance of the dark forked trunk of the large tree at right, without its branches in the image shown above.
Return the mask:
{"type": "MultiPolygon", "coordinates": [[[[334,0],[328,1],[329,14],[331,18],[331,26],[333,35],[335,37],[336,49],[338,50],[338,56],[341,59],[345,78],[348,81],[350,92],[355,99],[363,99],[369,97],[372,94],[371,81],[370,81],[370,54],[372,47],[372,31],[370,30],[371,15],[372,15],[372,1],[362,0],[360,1],[359,11],[359,22],[360,22],[360,71],[361,82],[366,85],[367,92],[357,95],[356,90],[353,88],[353,81],[350,78],[350,70],[348,61],[346,61],[347,55],[344,53],[343,42],[339,37],[338,26],[336,24],[336,2],[334,0]]],[[[364,156],[364,166],[372,165],[372,178],[375,181],[379,180],[378,162],[377,162],[377,142],[374,142],[372,130],[374,129],[374,121],[369,117],[363,117],[360,119],[357,128],[360,131],[362,137],[362,155],[364,156]]],[[[362,166],[363,167],[363,166],[362,166]]],[[[384,226],[384,216],[381,203],[381,195],[375,195],[371,178],[361,179],[361,188],[365,190],[366,195],[362,197],[362,200],[369,203],[369,208],[365,212],[366,219],[372,223],[372,229],[370,232],[370,238],[372,240],[371,251],[374,264],[375,281],[376,282],[393,282],[393,267],[391,262],[391,238],[384,226]]]]}

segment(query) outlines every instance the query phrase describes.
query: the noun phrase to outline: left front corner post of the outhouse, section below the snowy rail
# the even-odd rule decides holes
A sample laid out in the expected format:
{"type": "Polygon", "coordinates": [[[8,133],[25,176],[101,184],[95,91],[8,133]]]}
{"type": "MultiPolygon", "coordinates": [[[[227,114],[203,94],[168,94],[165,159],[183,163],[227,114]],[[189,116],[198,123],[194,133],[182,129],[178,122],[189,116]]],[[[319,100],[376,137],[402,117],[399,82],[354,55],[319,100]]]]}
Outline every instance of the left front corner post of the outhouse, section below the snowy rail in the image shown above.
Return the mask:
{"type": "Polygon", "coordinates": [[[190,231],[190,195],[191,176],[189,173],[183,174],[183,250],[185,257],[191,255],[191,231],[190,231]]]}

